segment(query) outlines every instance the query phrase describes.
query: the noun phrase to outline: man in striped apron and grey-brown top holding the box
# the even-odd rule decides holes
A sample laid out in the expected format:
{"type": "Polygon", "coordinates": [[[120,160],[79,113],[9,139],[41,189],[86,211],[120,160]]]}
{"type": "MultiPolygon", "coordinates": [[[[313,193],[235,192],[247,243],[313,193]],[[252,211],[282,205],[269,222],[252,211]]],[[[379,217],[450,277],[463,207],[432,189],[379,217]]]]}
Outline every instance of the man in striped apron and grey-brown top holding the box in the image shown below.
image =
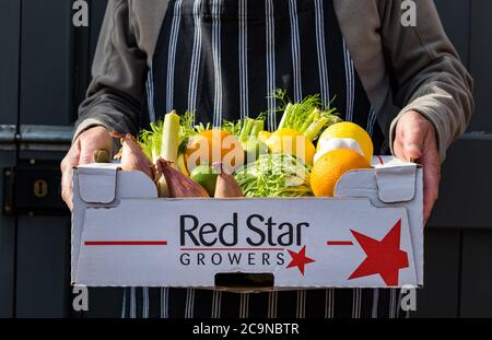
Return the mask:
{"type": "MultiPolygon", "coordinates": [[[[214,126],[266,112],[274,129],[269,94],[279,87],[294,101],[319,93],[366,128],[376,151],[420,162],[426,222],[446,149],[472,113],[472,80],[433,1],[417,2],[417,26],[403,26],[402,13],[393,0],[109,1],[94,79],[61,163],[63,199],[71,207],[71,168],[113,148],[108,130],[136,133],[171,109],[214,126]]],[[[397,302],[395,290],[130,289],[124,315],[397,316],[397,302]]]]}

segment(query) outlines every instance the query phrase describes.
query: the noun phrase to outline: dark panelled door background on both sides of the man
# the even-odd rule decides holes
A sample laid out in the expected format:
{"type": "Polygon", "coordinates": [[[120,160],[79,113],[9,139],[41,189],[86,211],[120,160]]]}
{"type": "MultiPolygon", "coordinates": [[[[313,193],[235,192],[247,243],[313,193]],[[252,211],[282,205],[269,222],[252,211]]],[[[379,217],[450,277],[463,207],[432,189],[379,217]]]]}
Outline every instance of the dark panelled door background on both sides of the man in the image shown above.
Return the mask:
{"type": "MultiPolygon", "coordinates": [[[[0,213],[1,317],[73,316],[70,219],[57,214],[57,167],[90,81],[106,7],[106,0],[87,2],[90,27],[75,28],[72,1],[0,0],[0,202],[16,209],[0,213]],[[21,125],[22,139],[15,140],[21,125]],[[36,131],[45,133],[30,140],[36,131]],[[36,176],[49,190],[39,201],[30,186],[22,187],[36,176]],[[40,206],[46,209],[36,211],[40,206]]],[[[467,133],[448,151],[441,199],[425,230],[418,316],[492,317],[492,1],[435,2],[476,80],[477,108],[467,133]]],[[[118,289],[92,289],[84,316],[118,316],[120,297],[118,289]]]]}

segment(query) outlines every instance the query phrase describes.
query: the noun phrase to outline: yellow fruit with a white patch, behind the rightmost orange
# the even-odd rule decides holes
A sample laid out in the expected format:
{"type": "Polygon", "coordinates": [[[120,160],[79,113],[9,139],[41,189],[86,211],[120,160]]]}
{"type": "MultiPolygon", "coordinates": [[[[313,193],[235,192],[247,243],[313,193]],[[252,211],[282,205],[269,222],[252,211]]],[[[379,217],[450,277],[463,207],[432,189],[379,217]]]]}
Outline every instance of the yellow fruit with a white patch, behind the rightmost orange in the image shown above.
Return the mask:
{"type": "Polygon", "coordinates": [[[321,133],[316,146],[315,163],[324,154],[336,149],[355,151],[364,156],[370,164],[373,159],[374,146],[371,137],[354,122],[337,122],[321,133]]]}

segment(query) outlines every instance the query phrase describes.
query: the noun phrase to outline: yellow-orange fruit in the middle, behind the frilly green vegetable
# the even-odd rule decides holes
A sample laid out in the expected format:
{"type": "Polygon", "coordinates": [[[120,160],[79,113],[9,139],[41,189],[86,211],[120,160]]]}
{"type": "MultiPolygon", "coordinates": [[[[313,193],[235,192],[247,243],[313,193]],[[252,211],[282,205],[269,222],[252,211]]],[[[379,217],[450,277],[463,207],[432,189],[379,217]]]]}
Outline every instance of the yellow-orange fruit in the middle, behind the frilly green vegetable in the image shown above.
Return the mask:
{"type": "Polygon", "coordinates": [[[288,153],[313,164],[316,148],[304,134],[293,129],[279,129],[267,140],[270,153],[288,153]]]}

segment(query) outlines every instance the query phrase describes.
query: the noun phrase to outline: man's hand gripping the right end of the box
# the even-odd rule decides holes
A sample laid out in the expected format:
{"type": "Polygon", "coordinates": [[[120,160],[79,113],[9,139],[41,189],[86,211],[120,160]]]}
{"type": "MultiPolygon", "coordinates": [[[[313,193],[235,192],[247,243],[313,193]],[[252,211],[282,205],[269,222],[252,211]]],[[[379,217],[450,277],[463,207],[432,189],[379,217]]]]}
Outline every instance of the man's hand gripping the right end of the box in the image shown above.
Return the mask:
{"type": "Polygon", "coordinates": [[[434,126],[417,112],[408,112],[398,120],[395,155],[402,161],[413,159],[423,167],[424,225],[437,200],[441,180],[441,160],[437,151],[434,126]]]}

